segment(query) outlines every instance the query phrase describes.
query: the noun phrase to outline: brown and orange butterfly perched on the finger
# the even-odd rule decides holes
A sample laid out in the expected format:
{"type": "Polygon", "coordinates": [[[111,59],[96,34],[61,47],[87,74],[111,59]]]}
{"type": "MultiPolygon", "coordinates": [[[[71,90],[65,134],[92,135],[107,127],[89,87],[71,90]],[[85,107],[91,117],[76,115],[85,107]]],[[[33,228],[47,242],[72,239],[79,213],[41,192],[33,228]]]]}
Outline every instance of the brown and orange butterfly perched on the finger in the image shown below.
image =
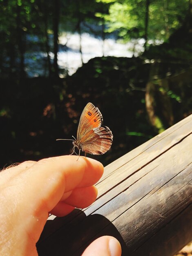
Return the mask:
{"type": "MultiPolygon", "coordinates": [[[[72,140],[73,153],[77,147],[80,150],[92,155],[103,155],[112,145],[113,135],[112,131],[103,126],[103,116],[98,108],[92,103],[87,103],[81,116],[77,129],[77,139],[57,139],[57,140],[72,140]]],[[[72,154],[73,154],[72,153],[72,154]]],[[[72,155],[71,154],[71,155],[72,155]]]]}

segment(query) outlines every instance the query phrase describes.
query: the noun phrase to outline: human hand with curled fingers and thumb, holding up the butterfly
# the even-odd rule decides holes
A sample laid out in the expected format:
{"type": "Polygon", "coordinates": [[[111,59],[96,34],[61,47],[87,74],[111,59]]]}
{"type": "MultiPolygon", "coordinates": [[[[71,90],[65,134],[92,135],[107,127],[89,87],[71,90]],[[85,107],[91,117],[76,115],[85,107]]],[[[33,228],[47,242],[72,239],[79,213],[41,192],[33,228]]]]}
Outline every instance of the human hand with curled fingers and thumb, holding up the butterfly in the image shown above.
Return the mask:
{"type": "MultiPolygon", "coordinates": [[[[97,197],[100,162],[76,156],[27,161],[0,173],[0,255],[37,256],[36,243],[49,213],[65,216],[88,207],[97,197]]],[[[95,240],[83,256],[120,256],[110,236],[95,240]]]]}

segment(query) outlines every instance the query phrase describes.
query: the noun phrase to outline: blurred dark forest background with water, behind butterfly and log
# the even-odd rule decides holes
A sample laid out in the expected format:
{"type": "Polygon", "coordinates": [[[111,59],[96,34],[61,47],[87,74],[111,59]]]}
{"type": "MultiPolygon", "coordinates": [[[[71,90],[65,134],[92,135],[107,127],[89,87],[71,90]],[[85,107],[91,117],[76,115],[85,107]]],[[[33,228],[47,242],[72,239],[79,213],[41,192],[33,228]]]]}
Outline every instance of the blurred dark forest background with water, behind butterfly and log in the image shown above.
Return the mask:
{"type": "Polygon", "coordinates": [[[71,153],[88,102],[104,165],[190,115],[192,0],[0,0],[0,168],[71,153]]]}

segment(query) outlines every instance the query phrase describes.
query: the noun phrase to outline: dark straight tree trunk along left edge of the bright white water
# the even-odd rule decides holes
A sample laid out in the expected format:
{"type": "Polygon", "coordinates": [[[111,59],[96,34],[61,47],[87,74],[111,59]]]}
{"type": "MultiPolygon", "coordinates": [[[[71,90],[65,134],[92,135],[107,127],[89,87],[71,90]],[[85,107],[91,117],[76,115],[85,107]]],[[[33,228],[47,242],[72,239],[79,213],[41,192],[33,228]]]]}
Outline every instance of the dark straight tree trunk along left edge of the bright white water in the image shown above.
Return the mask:
{"type": "Polygon", "coordinates": [[[54,1],[54,75],[58,77],[58,26],[59,26],[59,0],[54,1]]]}

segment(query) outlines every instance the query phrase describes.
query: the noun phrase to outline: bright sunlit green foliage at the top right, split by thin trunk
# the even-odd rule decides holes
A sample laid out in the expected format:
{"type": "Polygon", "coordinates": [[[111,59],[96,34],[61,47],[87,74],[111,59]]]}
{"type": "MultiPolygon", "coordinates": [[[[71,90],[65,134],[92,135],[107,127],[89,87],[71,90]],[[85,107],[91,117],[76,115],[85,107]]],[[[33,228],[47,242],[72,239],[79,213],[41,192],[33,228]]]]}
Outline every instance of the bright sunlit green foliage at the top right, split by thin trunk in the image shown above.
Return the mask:
{"type": "MultiPolygon", "coordinates": [[[[145,34],[146,1],[102,0],[111,3],[109,14],[104,15],[108,31],[119,31],[125,41],[143,38],[145,34]]],[[[152,42],[168,40],[170,34],[181,26],[188,10],[188,0],[152,0],[149,6],[148,39],[152,42]]],[[[96,16],[100,16],[96,13],[96,16]]]]}

